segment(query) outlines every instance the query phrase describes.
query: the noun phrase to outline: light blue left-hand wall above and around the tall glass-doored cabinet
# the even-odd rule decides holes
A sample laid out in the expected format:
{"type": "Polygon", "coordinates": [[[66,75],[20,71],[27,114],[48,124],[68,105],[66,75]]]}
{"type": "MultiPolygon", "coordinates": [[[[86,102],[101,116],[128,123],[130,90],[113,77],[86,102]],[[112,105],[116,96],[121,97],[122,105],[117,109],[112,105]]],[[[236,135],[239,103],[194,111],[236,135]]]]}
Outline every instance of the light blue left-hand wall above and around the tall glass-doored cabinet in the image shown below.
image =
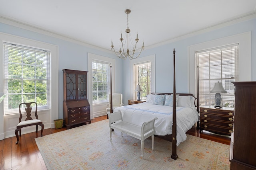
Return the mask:
{"type": "MultiPolygon", "coordinates": [[[[19,27],[14,27],[0,22],[0,32],[25,37],[53,45],[57,45],[59,48],[59,118],[63,118],[63,72],[62,69],[72,70],[84,70],[88,71],[88,53],[101,55],[104,57],[110,57],[116,59],[116,74],[115,74],[115,91],[122,93],[123,81],[122,81],[122,59],[117,59],[111,52],[107,53],[103,50],[93,49],[81,44],[72,43],[63,39],[47,36],[41,33],[28,31],[19,27]]],[[[1,61],[2,62],[2,61],[1,61]]]]}

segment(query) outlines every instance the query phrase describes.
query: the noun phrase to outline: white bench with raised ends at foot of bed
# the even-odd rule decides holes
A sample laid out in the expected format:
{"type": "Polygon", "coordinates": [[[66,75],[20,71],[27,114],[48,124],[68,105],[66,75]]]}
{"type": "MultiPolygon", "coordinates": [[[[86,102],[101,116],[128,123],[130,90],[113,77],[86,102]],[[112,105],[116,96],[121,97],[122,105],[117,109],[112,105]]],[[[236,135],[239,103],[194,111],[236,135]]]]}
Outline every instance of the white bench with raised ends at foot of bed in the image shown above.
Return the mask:
{"type": "Polygon", "coordinates": [[[143,159],[144,152],[144,139],[147,139],[151,136],[152,139],[152,150],[154,150],[154,123],[157,117],[150,121],[146,121],[142,126],[137,126],[132,123],[127,123],[123,121],[122,113],[116,111],[114,113],[108,113],[109,118],[109,127],[110,127],[110,142],[112,141],[112,129],[121,131],[123,133],[140,139],[141,141],[141,158],[143,159]]]}

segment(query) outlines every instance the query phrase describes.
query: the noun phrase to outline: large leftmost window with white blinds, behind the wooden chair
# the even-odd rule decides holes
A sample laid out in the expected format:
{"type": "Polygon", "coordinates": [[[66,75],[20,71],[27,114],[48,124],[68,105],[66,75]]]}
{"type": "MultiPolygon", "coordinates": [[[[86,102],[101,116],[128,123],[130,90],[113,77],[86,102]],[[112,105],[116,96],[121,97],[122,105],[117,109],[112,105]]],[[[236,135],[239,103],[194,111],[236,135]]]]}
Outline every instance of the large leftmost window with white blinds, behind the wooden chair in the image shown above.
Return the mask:
{"type": "Polygon", "coordinates": [[[23,102],[50,109],[50,51],[4,43],[4,114],[18,113],[23,102]]]}

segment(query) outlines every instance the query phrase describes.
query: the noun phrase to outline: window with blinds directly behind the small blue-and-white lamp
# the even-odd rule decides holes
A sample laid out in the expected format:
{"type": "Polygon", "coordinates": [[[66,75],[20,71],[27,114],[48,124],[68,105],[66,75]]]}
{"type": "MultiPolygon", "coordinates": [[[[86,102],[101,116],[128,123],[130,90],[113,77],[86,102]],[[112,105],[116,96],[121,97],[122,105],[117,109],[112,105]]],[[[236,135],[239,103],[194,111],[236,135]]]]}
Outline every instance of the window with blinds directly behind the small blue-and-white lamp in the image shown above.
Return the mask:
{"type": "MultiPolygon", "coordinates": [[[[140,92],[140,99],[147,100],[147,95],[151,93],[151,62],[135,64],[136,73],[136,89],[137,84],[140,84],[142,92],[140,92]]],[[[137,100],[137,92],[135,92],[137,100]]]]}

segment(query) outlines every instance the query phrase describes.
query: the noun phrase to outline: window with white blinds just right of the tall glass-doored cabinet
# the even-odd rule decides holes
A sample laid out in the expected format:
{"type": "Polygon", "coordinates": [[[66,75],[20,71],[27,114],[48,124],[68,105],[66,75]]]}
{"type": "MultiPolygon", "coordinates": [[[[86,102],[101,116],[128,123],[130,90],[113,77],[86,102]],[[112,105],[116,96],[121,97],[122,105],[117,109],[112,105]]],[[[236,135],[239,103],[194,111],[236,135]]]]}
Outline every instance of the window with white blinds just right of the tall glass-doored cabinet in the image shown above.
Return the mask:
{"type": "Polygon", "coordinates": [[[92,103],[108,102],[110,63],[92,61],[92,103]]]}

